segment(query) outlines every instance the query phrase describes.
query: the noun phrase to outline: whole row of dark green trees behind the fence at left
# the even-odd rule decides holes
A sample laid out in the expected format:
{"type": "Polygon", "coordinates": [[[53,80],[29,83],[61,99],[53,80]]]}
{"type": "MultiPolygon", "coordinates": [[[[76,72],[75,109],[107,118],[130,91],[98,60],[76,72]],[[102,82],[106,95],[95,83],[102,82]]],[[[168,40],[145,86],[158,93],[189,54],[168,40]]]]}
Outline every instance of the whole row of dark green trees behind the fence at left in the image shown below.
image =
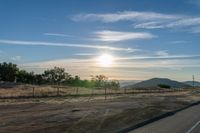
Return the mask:
{"type": "Polygon", "coordinates": [[[0,63],[0,80],[2,81],[17,81],[26,84],[65,84],[72,86],[82,86],[88,88],[118,88],[119,82],[117,80],[108,81],[104,75],[92,76],[92,80],[81,80],[76,75],[72,76],[65,72],[64,68],[54,67],[45,70],[42,74],[34,74],[34,72],[27,72],[26,70],[19,70],[16,64],[0,63]]]}

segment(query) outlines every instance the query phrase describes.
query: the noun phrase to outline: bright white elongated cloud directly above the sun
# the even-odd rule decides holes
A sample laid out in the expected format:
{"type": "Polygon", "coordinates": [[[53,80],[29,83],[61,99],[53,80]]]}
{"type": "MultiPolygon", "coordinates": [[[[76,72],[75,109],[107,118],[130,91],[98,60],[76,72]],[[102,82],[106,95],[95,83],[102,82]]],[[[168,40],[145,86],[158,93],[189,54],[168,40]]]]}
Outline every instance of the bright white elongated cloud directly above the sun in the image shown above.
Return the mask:
{"type": "Polygon", "coordinates": [[[147,32],[120,32],[120,31],[110,31],[103,30],[95,32],[95,40],[105,41],[105,42],[117,42],[126,40],[136,40],[136,39],[151,39],[156,36],[147,32]]]}

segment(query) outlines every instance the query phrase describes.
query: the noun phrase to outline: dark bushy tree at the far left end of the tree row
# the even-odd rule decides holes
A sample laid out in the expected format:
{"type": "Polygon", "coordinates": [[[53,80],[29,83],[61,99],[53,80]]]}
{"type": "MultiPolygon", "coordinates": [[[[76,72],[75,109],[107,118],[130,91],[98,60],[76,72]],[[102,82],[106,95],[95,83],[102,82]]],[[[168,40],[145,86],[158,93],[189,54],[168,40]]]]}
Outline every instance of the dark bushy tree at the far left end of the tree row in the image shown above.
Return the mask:
{"type": "Polygon", "coordinates": [[[19,69],[16,64],[0,63],[0,80],[13,82],[16,79],[18,71],[19,69]]]}

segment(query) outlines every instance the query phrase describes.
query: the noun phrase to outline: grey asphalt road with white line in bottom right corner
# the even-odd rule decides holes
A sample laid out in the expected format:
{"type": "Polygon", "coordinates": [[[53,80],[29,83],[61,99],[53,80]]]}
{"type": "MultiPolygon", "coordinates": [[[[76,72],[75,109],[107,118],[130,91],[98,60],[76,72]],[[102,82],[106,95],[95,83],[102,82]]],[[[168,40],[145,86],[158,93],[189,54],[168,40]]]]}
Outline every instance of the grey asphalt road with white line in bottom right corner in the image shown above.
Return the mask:
{"type": "Polygon", "coordinates": [[[130,133],[200,133],[200,105],[190,107],[130,133]]]}

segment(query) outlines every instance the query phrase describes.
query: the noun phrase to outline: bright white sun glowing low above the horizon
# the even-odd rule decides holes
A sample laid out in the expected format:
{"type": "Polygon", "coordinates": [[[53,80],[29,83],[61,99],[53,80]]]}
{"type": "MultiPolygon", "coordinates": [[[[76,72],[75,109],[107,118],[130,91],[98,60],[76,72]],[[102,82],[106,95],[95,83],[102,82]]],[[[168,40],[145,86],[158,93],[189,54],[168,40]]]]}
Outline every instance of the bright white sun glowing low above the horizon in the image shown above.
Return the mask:
{"type": "Polygon", "coordinates": [[[102,67],[110,67],[113,63],[113,56],[109,54],[102,54],[99,56],[98,62],[102,67]]]}

